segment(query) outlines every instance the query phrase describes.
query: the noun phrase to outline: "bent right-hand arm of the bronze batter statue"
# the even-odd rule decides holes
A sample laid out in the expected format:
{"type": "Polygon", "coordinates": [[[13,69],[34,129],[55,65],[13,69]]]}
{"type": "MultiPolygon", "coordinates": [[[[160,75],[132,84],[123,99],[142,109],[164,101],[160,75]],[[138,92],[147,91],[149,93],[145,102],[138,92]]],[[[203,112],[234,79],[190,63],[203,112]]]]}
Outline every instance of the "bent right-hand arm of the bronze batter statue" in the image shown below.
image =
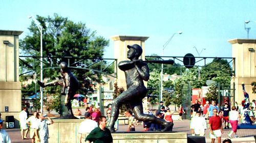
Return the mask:
{"type": "Polygon", "coordinates": [[[150,79],[150,69],[148,68],[147,64],[143,63],[141,59],[135,61],[135,68],[143,80],[147,81],[150,79]]]}

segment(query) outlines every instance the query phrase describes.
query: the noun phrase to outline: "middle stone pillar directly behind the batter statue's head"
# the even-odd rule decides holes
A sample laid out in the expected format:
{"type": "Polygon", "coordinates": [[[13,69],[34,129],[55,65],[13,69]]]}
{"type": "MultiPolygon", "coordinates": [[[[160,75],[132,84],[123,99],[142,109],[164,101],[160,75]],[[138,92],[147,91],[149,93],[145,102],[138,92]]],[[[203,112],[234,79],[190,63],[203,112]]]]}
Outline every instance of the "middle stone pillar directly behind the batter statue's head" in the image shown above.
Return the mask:
{"type": "MultiPolygon", "coordinates": [[[[145,60],[145,41],[148,37],[137,36],[114,36],[111,38],[114,41],[114,57],[117,63],[127,59],[127,45],[138,44],[142,48],[140,59],[145,60]]],[[[124,72],[117,68],[117,85],[119,88],[123,87],[126,90],[126,82],[124,72]]]]}

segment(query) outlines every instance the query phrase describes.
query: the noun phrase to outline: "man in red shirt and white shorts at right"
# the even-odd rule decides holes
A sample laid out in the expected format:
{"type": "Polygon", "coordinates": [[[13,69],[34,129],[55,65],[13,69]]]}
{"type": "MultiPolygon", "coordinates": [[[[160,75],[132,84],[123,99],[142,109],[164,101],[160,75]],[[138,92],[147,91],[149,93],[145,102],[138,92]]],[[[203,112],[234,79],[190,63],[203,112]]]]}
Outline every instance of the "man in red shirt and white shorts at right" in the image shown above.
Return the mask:
{"type": "Polygon", "coordinates": [[[210,138],[211,143],[215,142],[215,139],[218,138],[218,143],[221,142],[221,134],[223,133],[222,121],[221,118],[217,115],[218,110],[212,110],[213,116],[209,119],[209,129],[210,129],[210,138]]]}

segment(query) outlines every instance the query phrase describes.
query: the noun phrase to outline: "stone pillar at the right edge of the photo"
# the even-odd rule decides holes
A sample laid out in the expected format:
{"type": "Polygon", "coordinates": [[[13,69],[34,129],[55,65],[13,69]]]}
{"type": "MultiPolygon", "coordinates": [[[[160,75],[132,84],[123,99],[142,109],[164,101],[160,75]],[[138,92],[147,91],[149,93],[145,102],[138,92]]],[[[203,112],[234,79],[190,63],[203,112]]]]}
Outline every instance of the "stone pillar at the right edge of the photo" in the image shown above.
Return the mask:
{"type": "Polygon", "coordinates": [[[252,94],[251,82],[256,81],[256,39],[232,39],[229,40],[232,44],[232,57],[236,58],[234,69],[236,76],[231,79],[235,83],[235,101],[241,103],[244,98],[242,82],[245,84],[245,90],[249,94],[250,102],[255,99],[255,94],[252,94]]]}

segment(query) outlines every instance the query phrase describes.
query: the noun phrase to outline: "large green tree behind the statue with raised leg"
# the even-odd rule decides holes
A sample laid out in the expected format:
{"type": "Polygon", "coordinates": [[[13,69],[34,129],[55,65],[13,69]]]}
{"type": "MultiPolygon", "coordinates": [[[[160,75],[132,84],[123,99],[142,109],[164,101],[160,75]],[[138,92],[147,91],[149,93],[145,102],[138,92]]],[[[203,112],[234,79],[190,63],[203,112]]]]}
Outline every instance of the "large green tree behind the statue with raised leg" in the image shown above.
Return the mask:
{"type": "MultiPolygon", "coordinates": [[[[43,56],[46,57],[43,59],[43,62],[51,62],[52,65],[58,66],[62,61],[67,62],[67,59],[52,59],[52,56],[79,56],[85,59],[94,59],[79,62],[78,64],[81,67],[91,65],[92,63],[95,63],[90,67],[92,69],[98,70],[106,67],[105,62],[96,62],[99,61],[97,59],[102,59],[104,48],[109,45],[109,40],[97,36],[96,31],[91,31],[86,24],[73,22],[67,17],[61,17],[58,14],[54,14],[53,17],[37,15],[36,20],[42,26],[43,56]]],[[[22,53],[30,56],[40,56],[40,32],[34,21],[32,21],[28,29],[30,33],[20,40],[22,53]]],[[[22,68],[20,71],[30,71],[31,67],[33,67],[33,59],[25,58],[23,61],[20,63],[20,68],[22,68]]],[[[70,64],[74,62],[77,61],[74,61],[74,59],[70,60],[70,64]]],[[[39,61],[34,65],[36,73],[40,71],[39,65],[39,61]]],[[[86,95],[89,87],[91,87],[91,84],[88,84],[89,78],[91,81],[101,82],[101,73],[92,70],[72,70],[72,72],[80,82],[81,88],[78,91],[80,94],[86,95]],[[87,87],[85,87],[86,85],[87,87]]],[[[43,76],[50,79],[49,81],[55,80],[60,77],[59,69],[44,69],[43,76]]],[[[47,87],[44,93],[50,96],[57,96],[56,94],[60,93],[60,89],[47,87]]],[[[53,99],[58,100],[57,98],[53,99]]],[[[56,102],[59,103],[59,100],[56,102]]],[[[56,105],[56,107],[58,106],[56,105]]]]}

